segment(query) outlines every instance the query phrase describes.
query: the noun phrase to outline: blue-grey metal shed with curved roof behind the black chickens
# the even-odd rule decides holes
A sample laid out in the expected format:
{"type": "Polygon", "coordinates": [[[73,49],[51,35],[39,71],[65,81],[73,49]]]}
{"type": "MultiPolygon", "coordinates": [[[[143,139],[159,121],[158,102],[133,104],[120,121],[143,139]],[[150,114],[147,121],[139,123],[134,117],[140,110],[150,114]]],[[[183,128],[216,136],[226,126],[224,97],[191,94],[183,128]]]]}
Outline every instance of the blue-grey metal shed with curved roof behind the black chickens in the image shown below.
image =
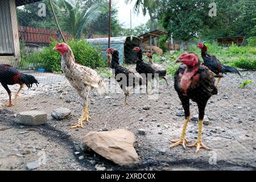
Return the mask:
{"type": "MultiPolygon", "coordinates": [[[[93,46],[100,46],[102,51],[108,48],[108,38],[86,39],[93,46]]],[[[121,36],[110,38],[110,47],[119,51],[119,63],[132,64],[136,62],[137,54],[133,51],[134,47],[140,46],[141,39],[136,36],[121,36]]]]}

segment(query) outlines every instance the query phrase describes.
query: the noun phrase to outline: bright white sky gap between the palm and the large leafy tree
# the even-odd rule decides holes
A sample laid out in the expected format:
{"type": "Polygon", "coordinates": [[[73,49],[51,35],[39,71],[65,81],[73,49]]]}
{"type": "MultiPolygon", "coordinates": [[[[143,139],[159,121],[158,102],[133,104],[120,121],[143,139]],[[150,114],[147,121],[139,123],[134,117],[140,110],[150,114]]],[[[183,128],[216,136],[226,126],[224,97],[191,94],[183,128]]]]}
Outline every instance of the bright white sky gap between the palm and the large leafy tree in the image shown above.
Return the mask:
{"type": "Polygon", "coordinates": [[[126,5],[125,0],[114,0],[113,4],[118,9],[118,20],[119,23],[123,24],[124,28],[130,28],[130,10],[131,10],[131,27],[137,27],[142,23],[146,23],[150,16],[142,14],[142,10],[138,14],[134,12],[135,0],[130,4],[126,5]]]}

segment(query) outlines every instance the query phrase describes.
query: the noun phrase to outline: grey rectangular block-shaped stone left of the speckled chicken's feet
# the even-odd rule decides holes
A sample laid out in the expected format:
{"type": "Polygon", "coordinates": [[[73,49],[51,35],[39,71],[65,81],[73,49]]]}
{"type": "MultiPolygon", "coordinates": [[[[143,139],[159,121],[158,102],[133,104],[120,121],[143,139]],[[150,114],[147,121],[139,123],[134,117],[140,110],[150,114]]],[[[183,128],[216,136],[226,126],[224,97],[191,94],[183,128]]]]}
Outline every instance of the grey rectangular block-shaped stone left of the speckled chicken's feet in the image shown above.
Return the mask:
{"type": "Polygon", "coordinates": [[[24,111],[18,114],[18,123],[22,125],[44,125],[47,123],[47,113],[43,111],[24,111]]]}

